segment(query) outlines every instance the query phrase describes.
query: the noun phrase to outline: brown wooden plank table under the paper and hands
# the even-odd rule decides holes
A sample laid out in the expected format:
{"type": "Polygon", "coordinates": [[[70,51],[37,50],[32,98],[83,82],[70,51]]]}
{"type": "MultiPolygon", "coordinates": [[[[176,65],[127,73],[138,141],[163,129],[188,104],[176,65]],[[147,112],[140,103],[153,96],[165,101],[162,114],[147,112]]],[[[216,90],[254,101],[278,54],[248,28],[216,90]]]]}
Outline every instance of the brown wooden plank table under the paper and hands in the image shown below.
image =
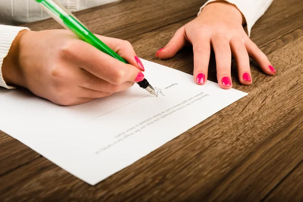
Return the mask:
{"type": "MultiPolygon", "coordinates": [[[[122,1],[75,15],[94,33],[129,40],[139,57],[192,74],[190,48],[171,60],[155,53],[204,2],[122,1]]],[[[26,26],[61,28],[54,20],[26,26]]],[[[95,186],[0,131],[0,201],[302,201],[303,1],[274,0],[251,39],[276,76],[251,62],[254,83],[243,86],[234,71],[234,88],[248,96],[95,186]]]]}

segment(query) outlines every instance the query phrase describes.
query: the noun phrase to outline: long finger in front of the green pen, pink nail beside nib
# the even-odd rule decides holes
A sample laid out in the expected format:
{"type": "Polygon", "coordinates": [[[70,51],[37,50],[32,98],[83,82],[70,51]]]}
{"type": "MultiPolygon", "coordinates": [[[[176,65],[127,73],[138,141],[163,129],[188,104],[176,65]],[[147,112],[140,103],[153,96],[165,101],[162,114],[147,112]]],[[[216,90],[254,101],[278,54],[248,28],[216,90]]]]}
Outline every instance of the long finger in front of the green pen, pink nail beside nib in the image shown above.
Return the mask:
{"type": "Polygon", "coordinates": [[[144,79],[137,67],[120,62],[84,41],[77,40],[62,51],[65,58],[77,67],[112,84],[139,82],[144,79]]]}

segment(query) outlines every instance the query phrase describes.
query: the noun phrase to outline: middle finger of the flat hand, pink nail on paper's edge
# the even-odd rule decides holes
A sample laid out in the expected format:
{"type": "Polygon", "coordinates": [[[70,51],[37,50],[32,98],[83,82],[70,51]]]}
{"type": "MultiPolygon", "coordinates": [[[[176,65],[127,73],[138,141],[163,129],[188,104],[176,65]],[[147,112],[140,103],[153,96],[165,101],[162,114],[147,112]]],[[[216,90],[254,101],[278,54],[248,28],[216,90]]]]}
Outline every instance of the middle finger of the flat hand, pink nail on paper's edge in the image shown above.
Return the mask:
{"type": "Polygon", "coordinates": [[[212,45],[216,55],[217,78],[221,88],[230,89],[231,83],[231,50],[229,42],[224,35],[215,35],[212,39],[212,45]]]}

